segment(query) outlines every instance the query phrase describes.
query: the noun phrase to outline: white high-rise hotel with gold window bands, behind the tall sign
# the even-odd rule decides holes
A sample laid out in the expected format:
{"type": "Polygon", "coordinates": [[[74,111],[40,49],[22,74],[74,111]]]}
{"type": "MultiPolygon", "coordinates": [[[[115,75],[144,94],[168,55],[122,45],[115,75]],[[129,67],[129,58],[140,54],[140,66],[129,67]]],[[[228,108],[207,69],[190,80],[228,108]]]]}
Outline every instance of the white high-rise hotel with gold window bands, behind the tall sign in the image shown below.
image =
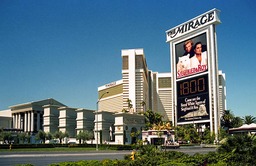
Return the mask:
{"type": "MultiPolygon", "coordinates": [[[[122,112],[129,110],[127,100],[133,107],[130,112],[145,112],[150,109],[164,116],[164,120],[175,119],[174,88],[172,73],[153,72],[148,69],[143,49],[122,50],[122,75],[120,79],[98,87],[99,110],[122,112]],[[141,102],[145,102],[142,106],[141,102]]],[[[220,116],[226,109],[225,74],[219,71],[220,116]]]]}

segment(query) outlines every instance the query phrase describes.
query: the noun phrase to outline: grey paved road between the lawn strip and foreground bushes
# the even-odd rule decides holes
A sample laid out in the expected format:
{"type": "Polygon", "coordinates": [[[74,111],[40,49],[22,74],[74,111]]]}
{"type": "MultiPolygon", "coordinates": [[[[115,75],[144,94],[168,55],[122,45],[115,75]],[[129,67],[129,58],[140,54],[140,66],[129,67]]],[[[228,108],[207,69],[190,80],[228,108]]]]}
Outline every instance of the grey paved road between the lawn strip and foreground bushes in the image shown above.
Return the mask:
{"type": "MultiPolygon", "coordinates": [[[[194,153],[205,154],[210,151],[215,151],[214,148],[200,148],[200,146],[180,147],[178,149],[167,149],[167,151],[175,150],[182,151],[189,155],[194,153]]],[[[126,154],[131,154],[131,151],[53,151],[53,152],[1,152],[0,166],[9,166],[16,164],[33,163],[36,166],[45,166],[51,163],[60,163],[64,161],[79,161],[79,160],[99,160],[105,158],[118,160],[123,159],[126,154]]]]}

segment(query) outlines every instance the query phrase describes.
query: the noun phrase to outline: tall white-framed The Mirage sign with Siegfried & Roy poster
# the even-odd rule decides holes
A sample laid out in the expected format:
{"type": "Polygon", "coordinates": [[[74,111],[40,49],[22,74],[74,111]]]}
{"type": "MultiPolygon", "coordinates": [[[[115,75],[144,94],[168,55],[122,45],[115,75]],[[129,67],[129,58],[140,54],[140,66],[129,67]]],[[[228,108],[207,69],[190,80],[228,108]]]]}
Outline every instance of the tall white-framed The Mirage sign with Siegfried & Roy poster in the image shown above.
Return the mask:
{"type": "MultiPolygon", "coordinates": [[[[171,46],[175,123],[217,125],[218,59],[215,26],[220,24],[220,11],[210,10],[166,31],[171,46]]],[[[212,130],[212,127],[211,127],[212,130]]]]}

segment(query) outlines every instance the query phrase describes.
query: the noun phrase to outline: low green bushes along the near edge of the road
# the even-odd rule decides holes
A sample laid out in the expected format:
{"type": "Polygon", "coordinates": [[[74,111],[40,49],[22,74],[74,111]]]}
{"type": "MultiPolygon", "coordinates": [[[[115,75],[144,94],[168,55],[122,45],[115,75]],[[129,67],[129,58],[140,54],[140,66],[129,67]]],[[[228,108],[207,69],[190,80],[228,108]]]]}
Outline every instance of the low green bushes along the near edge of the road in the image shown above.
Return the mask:
{"type": "MultiPolygon", "coordinates": [[[[168,151],[166,157],[164,152],[136,153],[135,160],[130,159],[131,155],[125,155],[123,160],[103,161],[75,161],[52,163],[49,166],[255,166],[255,156],[245,154],[232,153],[215,153],[209,152],[205,155],[196,153],[189,156],[183,152],[168,151]]],[[[22,165],[16,165],[22,166],[22,165]]],[[[25,166],[34,166],[33,164],[26,164],[25,166]]]]}

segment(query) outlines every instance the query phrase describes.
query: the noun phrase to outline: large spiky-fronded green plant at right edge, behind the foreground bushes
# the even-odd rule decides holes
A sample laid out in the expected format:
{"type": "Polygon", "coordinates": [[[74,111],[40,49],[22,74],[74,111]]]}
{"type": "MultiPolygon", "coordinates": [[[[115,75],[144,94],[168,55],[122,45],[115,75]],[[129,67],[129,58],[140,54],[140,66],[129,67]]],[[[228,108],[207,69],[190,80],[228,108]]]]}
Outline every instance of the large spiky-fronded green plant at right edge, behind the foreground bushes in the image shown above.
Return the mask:
{"type": "Polygon", "coordinates": [[[220,143],[218,153],[239,153],[256,155],[256,136],[248,133],[229,135],[220,143]]]}

